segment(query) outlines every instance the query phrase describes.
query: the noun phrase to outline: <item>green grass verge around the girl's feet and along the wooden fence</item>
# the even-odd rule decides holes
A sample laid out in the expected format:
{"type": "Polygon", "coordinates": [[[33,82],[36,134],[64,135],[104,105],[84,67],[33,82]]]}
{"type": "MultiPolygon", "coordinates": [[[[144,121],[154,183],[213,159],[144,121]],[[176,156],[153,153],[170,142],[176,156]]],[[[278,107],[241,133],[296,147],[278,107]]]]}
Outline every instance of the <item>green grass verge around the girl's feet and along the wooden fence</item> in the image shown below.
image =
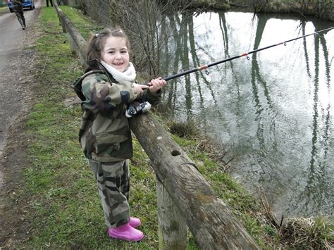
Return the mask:
{"type": "MultiPolygon", "coordinates": [[[[99,30],[79,11],[61,6],[84,34],[99,30]]],[[[27,146],[30,166],[24,170],[25,186],[22,199],[29,195],[32,232],[18,248],[40,249],[157,249],[158,225],[154,170],[142,147],[134,140],[134,157],[130,162],[130,211],[142,219],[140,227],[145,238],[140,243],[111,240],[106,225],[94,177],[78,143],[81,111],[78,105],[66,108],[63,101],[74,96],[71,82],[82,70],[78,58],[70,51],[67,37],[61,30],[53,8],[43,8],[37,23],[41,32],[35,43],[39,53],[37,70],[40,93],[28,116],[26,133],[31,138],[27,146]]],[[[209,181],[216,194],[228,203],[237,218],[245,225],[259,246],[276,242],[276,230],[258,214],[259,205],[232,178],[223,173],[220,165],[197,149],[197,141],[174,136],[209,181]]],[[[189,249],[197,249],[190,236],[189,249]]],[[[269,247],[271,248],[271,247],[269,247]]]]}

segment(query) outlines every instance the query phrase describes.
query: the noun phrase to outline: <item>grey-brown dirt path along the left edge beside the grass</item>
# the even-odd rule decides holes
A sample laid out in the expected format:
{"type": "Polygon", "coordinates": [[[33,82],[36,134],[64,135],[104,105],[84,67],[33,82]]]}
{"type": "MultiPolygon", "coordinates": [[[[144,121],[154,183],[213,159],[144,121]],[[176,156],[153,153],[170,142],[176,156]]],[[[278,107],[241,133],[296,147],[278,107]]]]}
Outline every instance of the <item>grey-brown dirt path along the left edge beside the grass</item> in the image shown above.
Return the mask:
{"type": "Polygon", "coordinates": [[[37,53],[31,46],[38,36],[33,25],[43,4],[37,0],[35,10],[25,11],[26,30],[13,13],[0,13],[0,249],[29,237],[27,204],[17,198],[16,189],[27,165],[23,121],[35,100],[37,53]]]}

